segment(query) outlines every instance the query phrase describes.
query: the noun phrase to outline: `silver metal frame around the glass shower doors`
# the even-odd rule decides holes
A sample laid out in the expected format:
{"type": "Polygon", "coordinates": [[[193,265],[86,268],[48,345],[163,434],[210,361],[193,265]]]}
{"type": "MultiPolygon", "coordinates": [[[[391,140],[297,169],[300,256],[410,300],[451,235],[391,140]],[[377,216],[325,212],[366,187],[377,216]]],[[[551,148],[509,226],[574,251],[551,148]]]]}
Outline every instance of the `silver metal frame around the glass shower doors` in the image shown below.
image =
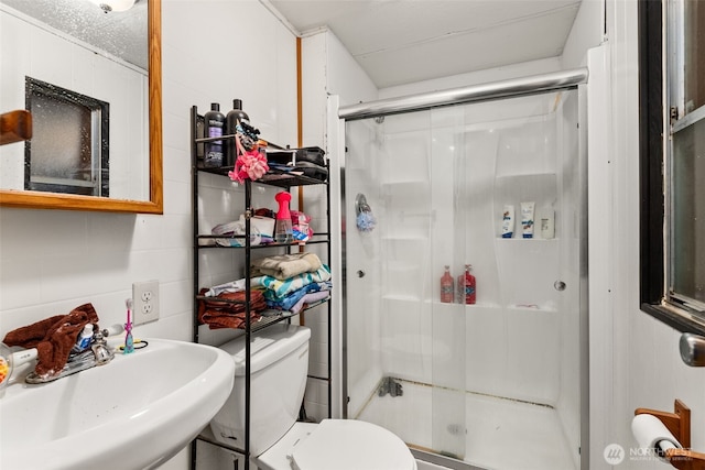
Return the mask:
{"type": "MultiPolygon", "coordinates": [[[[361,102],[351,106],[339,106],[336,96],[329,97],[328,102],[328,138],[332,153],[340,155],[338,162],[332,165],[332,172],[337,173],[339,183],[333,183],[334,190],[337,190],[339,195],[339,206],[334,208],[334,212],[338,212],[338,219],[345,221],[349,219],[346,214],[346,192],[345,192],[345,127],[347,121],[384,117],[390,114],[399,114],[413,111],[430,110],[432,108],[466,105],[473,102],[480,102],[487,100],[497,100],[505,98],[514,98],[528,95],[536,95],[542,92],[560,91],[567,89],[578,90],[578,120],[579,122],[587,122],[586,119],[586,98],[585,98],[585,85],[588,80],[588,69],[586,67],[575,68],[570,70],[562,70],[549,74],[533,75],[528,77],[512,78],[508,80],[499,80],[487,84],[471,85],[468,87],[453,88],[442,91],[433,91],[427,94],[419,94],[413,96],[404,96],[399,98],[389,98],[370,102],[361,102]]],[[[587,151],[586,144],[586,130],[581,132],[581,178],[584,179],[582,187],[585,189],[579,195],[581,205],[581,236],[579,236],[579,278],[581,278],[581,292],[579,292],[579,325],[581,325],[581,338],[579,338],[579,392],[581,392],[581,448],[584,450],[581,452],[579,467],[582,470],[589,469],[589,423],[588,423],[588,403],[589,403],[589,383],[588,383],[588,340],[587,340],[587,325],[588,325],[588,285],[587,285],[587,151]]],[[[339,402],[334,406],[338,413],[338,416],[348,418],[347,416],[347,403],[348,403],[348,384],[347,384],[347,266],[346,266],[346,227],[347,223],[343,223],[340,230],[340,247],[336,250],[340,258],[336,263],[340,266],[340,299],[338,306],[340,309],[339,328],[337,329],[341,348],[340,357],[337,358],[337,363],[340,364],[339,371],[339,386],[336,386],[338,392],[339,402]]],[[[335,340],[335,338],[329,338],[335,340]]],[[[457,470],[475,470],[478,469],[466,462],[449,459],[441,455],[426,452],[417,449],[411,449],[412,453],[420,459],[431,463],[445,466],[457,470]]],[[[479,470],[479,469],[478,469],[479,470]]]]}

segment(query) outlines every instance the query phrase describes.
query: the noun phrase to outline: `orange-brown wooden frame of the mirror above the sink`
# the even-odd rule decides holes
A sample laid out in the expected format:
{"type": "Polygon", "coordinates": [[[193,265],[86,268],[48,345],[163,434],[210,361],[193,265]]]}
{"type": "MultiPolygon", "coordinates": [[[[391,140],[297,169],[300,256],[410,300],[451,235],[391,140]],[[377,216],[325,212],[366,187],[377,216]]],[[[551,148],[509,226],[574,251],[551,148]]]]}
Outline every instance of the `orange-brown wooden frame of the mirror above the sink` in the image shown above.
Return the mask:
{"type": "MultiPolygon", "coordinates": [[[[143,188],[144,200],[132,198],[110,198],[82,196],[65,193],[45,193],[26,189],[0,189],[0,206],[17,208],[90,210],[112,212],[162,214],[163,212],[163,175],[162,175],[162,58],[161,58],[161,0],[139,0],[147,8],[147,41],[148,41],[148,121],[149,131],[145,140],[149,151],[143,159],[149,157],[149,189],[143,188]]],[[[97,8],[97,7],[96,7],[97,8]]],[[[112,13],[101,13],[112,14],[112,13]]],[[[2,109],[0,112],[12,111],[2,109]]],[[[22,145],[15,143],[12,145],[22,145]]]]}

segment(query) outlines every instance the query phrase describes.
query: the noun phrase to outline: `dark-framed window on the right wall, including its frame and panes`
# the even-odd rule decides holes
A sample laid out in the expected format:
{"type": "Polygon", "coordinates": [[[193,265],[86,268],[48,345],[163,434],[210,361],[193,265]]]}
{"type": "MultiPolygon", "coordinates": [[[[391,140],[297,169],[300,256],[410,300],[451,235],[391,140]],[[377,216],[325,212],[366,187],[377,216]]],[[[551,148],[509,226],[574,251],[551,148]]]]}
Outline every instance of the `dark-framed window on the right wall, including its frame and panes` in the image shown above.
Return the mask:
{"type": "Polygon", "coordinates": [[[642,309],[703,334],[705,2],[640,2],[639,20],[642,309]]]}

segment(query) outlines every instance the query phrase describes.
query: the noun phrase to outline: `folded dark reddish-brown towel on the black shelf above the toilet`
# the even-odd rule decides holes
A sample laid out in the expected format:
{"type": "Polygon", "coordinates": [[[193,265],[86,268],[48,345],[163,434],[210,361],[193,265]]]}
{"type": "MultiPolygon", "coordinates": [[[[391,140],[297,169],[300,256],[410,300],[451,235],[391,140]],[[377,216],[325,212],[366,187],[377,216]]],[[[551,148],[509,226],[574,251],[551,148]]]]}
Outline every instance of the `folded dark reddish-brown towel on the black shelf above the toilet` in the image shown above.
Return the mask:
{"type": "MultiPolygon", "coordinates": [[[[200,289],[200,295],[205,295],[207,288],[200,289]]],[[[240,328],[246,327],[245,292],[221,293],[214,300],[198,300],[198,321],[208,325],[209,329],[240,328]],[[226,299],[237,303],[217,302],[226,299]]],[[[264,296],[261,291],[250,291],[250,324],[260,319],[258,311],[267,308],[264,296]]]]}

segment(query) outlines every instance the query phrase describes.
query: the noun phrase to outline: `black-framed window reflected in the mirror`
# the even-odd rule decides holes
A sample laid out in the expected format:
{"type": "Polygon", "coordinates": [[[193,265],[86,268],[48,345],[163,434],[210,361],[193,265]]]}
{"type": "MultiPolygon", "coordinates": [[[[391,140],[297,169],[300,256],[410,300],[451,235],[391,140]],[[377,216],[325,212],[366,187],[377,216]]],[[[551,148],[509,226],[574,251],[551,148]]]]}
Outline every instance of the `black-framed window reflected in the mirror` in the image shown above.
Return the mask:
{"type": "Polygon", "coordinates": [[[105,101],[26,77],[33,138],[24,147],[24,188],[108,197],[105,101]]]}

